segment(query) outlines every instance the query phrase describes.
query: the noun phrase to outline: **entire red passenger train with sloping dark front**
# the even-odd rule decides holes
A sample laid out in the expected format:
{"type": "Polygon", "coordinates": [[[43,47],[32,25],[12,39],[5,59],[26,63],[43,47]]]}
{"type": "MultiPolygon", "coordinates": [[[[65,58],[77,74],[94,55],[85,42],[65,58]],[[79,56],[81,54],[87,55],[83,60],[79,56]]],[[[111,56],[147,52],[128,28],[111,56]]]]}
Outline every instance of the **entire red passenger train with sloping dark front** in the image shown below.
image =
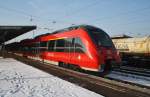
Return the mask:
{"type": "Polygon", "coordinates": [[[121,59],[111,38],[90,25],[69,27],[19,43],[18,51],[28,58],[89,71],[109,71],[121,59]]]}

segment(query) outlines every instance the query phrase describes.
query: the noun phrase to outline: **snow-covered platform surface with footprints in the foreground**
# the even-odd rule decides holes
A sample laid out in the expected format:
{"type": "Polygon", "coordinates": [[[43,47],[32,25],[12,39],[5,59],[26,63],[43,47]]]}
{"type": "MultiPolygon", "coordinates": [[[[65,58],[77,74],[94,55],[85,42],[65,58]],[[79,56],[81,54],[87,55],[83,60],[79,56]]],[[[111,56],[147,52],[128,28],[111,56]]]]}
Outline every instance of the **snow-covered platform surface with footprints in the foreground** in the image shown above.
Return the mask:
{"type": "Polygon", "coordinates": [[[0,97],[102,97],[14,59],[0,58],[0,97]]]}

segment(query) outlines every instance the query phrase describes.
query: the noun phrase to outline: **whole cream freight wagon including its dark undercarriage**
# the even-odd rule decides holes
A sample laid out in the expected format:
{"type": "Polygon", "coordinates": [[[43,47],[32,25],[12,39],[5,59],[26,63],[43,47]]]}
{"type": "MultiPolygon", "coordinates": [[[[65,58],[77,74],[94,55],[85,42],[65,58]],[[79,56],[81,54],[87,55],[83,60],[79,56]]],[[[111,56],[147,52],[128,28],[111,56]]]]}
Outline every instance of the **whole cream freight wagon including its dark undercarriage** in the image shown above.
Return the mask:
{"type": "Polygon", "coordinates": [[[142,38],[113,38],[123,65],[150,69],[150,36],[142,38]]]}

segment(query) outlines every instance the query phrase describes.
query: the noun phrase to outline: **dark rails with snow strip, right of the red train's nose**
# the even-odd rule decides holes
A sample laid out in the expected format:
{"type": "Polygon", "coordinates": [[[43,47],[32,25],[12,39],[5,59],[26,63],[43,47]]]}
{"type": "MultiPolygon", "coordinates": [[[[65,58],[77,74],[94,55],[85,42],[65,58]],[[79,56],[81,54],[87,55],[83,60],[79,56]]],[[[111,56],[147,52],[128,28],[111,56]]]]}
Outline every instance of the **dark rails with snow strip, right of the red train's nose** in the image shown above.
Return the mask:
{"type": "Polygon", "coordinates": [[[110,75],[106,75],[106,78],[150,89],[149,69],[121,66],[113,69],[110,75]]]}

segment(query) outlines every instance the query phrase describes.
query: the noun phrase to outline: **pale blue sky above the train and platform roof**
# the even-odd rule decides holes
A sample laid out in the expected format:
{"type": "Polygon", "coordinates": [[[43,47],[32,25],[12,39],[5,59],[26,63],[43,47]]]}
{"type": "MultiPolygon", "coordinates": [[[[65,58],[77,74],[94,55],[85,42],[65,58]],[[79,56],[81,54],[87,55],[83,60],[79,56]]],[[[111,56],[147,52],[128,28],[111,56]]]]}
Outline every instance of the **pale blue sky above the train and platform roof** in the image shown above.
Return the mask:
{"type": "MultiPolygon", "coordinates": [[[[72,24],[94,25],[110,36],[147,36],[150,0],[1,0],[0,3],[0,25],[37,25],[34,36],[72,24]]],[[[29,32],[15,40],[32,37],[29,32]]]]}

